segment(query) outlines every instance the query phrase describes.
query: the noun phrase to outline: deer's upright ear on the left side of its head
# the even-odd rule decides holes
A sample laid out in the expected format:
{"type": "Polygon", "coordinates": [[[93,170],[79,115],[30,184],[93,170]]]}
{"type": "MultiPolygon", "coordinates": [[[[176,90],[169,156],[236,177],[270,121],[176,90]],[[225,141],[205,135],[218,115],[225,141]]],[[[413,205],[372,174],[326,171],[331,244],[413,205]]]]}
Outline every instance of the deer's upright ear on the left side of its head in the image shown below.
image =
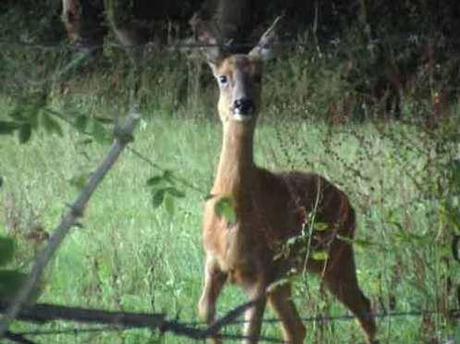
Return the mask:
{"type": "Polygon", "coordinates": [[[195,39],[198,43],[202,44],[201,50],[204,52],[204,55],[214,72],[217,64],[219,64],[219,62],[221,62],[224,58],[221,48],[222,44],[216,34],[217,29],[213,28],[212,25],[210,25],[211,23],[203,20],[196,13],[193,15],[192,19],[190,19],[189,23],[192,27],[193,33],[195,34],[195,39]]]}

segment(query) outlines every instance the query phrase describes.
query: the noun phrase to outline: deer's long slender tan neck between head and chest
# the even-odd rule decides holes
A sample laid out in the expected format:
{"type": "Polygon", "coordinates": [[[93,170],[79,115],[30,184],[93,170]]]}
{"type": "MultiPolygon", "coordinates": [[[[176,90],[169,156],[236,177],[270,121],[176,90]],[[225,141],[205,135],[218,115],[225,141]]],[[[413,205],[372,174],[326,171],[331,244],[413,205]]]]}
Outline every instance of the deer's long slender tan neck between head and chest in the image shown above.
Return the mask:
{"type": "Polygon", "coordinates": [[[213,194],[237,197],[250,189],[256,170],[253,160],[253,139],[254,130],[248,130],[240,123],[224,125],[213,194]]]}

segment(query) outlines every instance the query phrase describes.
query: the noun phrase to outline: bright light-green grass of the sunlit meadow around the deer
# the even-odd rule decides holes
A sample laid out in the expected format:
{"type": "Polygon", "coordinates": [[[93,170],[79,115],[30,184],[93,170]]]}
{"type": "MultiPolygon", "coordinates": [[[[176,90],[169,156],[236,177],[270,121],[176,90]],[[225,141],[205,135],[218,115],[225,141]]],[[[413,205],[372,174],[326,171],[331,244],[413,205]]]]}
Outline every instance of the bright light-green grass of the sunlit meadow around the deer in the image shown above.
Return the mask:
{"type": "MultiPolygon", "coordinates": [[[[270,111],[278,110],[267,109],[270,111]]],[[[141,123],[132,144],[201,191],[178,184],[186,197],[175,202],[174,213],[163,207],[153,209],[145,184],[160,171],[125,151],[86,209],[83,227],[74,229],[59,250],[40,302],[163,312],[170,318],[197,320],[203,260],[201,213],[220,145],[220,124],[199,119],[202,117],[152,114],[141,123]]],[[[381,312],[394,301],[397,311],[433,310],[449,303],[443,290],[446,242],[438,216],[439,200],[425,197],[425,188],[417,184],[430,180],[429,173],[438,176],[437,170],[425,168],[427,157],[417,150],[432,145],[423,132],[401,124],[329,127],[274,118],[277,115],[262,118],[256,160],[272,170],[316,171],[350,195],[359,214],[355,245],[359,280],[375,308],[381,312]]],[[[0,174],[5,182],[0,193],[0,229],[19,241],[17,265],[26,268],[39,247],[26,238],[30,228],[40,225],[51,231],[78,192],[70,180],[91,172],[108,150],[107,145],[84,144],[84,139],[70,128],[62,138],[38,134],[25,145],[13,137],[2,137],[0,174]]],[[[241,292],[228,288],[219,302],[220,314],[244,300],[241,292]]],[[[295,300],[304,317],[346,312],[319,291],[313,276],[296,280],[295,300]]],[[[273,314],[267,312],[266,317],[273,314]]],[[[452,331],[442,316],[426,316],[424,321],[420,317],[386,318],[378,325],[382,343],[445,340],[452,331]]],[[[52,329],[65,326],[72,325],[47,325],[52,329]]],[[[308,343],[363,340],[353,321],[308,323],[307,328],[308,343]]],[[[264,325],[264,334],[281,336],[273,324],[264,325]]],[[[37,339],[145,343],[156,338],[147,331],[125,331],[37,339]]],[[[190,340],[168,334],[163,342],[190,340]]]]}

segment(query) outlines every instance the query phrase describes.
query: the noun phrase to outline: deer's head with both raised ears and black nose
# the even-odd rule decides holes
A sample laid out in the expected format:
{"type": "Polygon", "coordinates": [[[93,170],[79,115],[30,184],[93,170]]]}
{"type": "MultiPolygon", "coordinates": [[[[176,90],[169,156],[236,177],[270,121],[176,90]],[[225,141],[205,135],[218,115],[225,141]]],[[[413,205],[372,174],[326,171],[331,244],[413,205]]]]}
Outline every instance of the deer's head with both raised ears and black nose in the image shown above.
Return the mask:
{"type": "Polygon", "coordinates": [[[207,62],[219,86],[218,110],[221,121],[253,126],[260,107],[262,64],[272,55],[275,26],[279,18],[262,35],[248,54],[231,54],[228,46],[195,18],[192,26],[204,48],[207,62]]]}

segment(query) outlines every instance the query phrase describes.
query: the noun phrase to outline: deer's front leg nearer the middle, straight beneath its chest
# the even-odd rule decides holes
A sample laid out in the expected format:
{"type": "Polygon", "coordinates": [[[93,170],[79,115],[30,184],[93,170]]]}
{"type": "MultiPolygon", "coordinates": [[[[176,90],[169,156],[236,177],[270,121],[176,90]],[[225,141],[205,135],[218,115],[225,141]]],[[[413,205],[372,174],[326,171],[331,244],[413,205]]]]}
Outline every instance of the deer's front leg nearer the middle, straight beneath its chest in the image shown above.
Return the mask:
{"type": "Polygon", "coordinates": [[[260,281],[254,286],[246,288],[246,292],[251,301],[255,301],[255,305],[249,308],[245,314],[245,326],[243,343],[253,344],[259,341],[260,330],[264,317],[265,305],[267,297],[265,295],[265,283],[260,281]]]}

